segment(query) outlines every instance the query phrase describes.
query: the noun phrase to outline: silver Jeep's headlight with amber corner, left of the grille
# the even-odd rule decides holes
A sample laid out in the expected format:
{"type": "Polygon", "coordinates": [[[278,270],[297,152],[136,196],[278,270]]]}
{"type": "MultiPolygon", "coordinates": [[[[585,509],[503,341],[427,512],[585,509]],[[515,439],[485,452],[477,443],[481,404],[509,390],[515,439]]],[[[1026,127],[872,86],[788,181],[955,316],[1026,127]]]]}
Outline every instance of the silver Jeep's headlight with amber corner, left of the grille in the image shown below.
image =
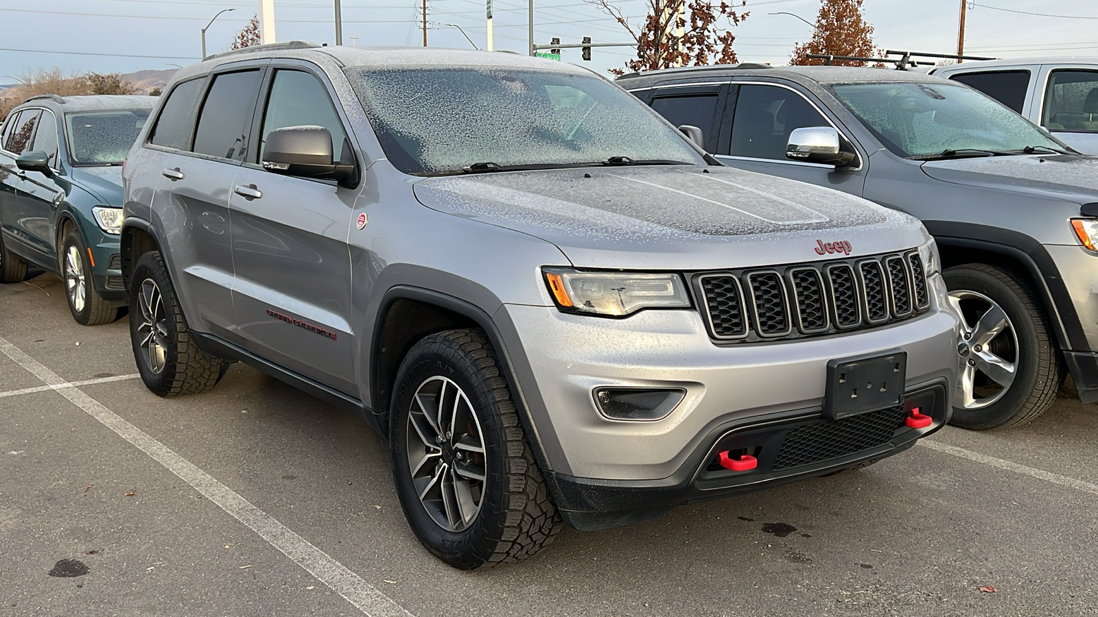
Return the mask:
{"type": "Polygon", "coordinates": [[[641,308],[688,308],[679,274],[544,270],[557,307],[570,313],[624,316],[641,308]]]}

